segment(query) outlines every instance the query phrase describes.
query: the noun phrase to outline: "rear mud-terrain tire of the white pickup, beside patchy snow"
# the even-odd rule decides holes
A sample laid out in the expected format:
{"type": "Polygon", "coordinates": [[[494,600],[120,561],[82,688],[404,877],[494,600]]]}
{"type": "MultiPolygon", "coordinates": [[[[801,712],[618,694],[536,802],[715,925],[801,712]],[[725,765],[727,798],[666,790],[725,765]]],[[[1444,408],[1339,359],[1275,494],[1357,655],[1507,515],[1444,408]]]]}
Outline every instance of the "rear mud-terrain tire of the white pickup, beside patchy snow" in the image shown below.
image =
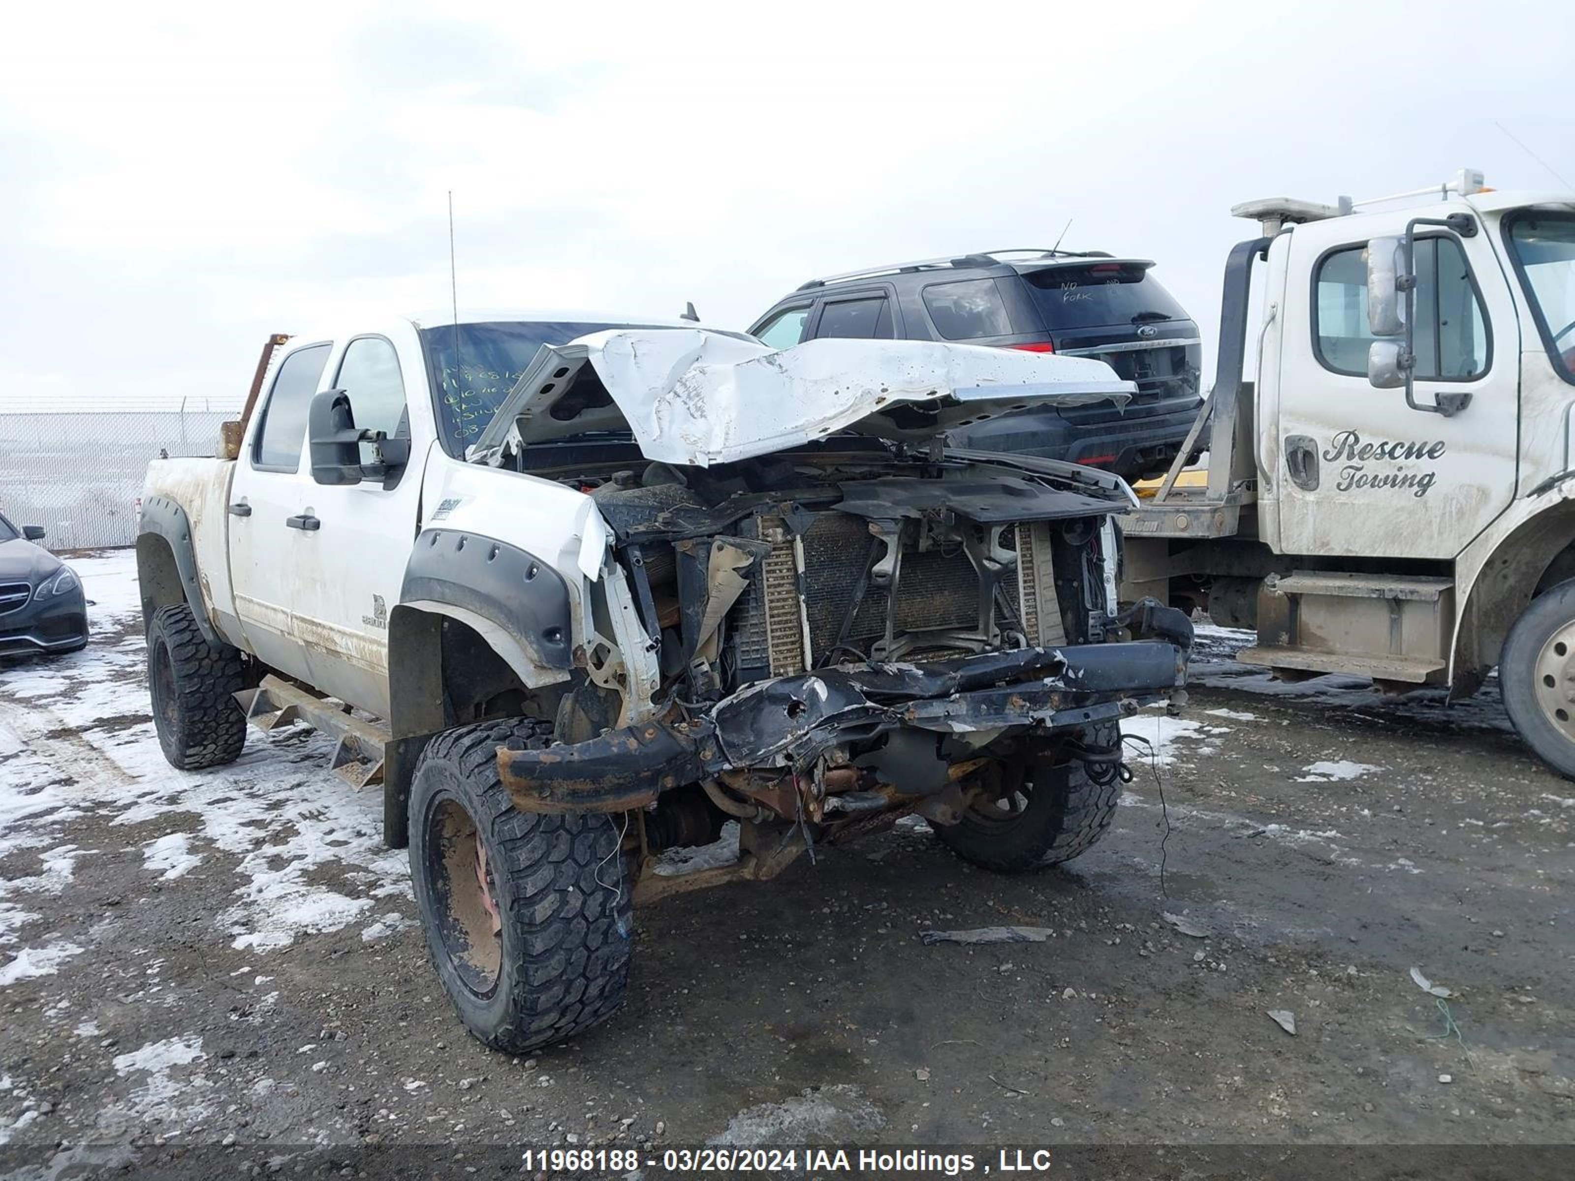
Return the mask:
{"type": "Polygon", "coordinates": [[[241,757],[246,715],[241,650],[209,644],[186,603],[161,606],[148,622],[148,696],[153,726],[170,767],[197,772],[241,757]]]}

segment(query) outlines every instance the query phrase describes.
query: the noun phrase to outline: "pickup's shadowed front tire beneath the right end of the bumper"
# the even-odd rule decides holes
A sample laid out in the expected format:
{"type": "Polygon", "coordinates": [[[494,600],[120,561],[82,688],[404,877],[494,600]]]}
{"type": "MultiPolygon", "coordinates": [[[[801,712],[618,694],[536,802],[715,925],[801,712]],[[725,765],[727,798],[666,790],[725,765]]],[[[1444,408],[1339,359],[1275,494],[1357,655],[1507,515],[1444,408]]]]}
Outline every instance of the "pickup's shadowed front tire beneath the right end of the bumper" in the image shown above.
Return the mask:
{"type": "MultiPolygon", "coordinates": [[[[1121,743],[1114,723],[1084,731],[1085,746],[1121,743]]],[[[1110,827],[1121,783],[1088,773],[1084,762],[999,761],[984,768],[992,800],[970,808],[958,824],[937,825],[940,842],[964,861],[1002,874],[1069,861],[1110,827]]]]}

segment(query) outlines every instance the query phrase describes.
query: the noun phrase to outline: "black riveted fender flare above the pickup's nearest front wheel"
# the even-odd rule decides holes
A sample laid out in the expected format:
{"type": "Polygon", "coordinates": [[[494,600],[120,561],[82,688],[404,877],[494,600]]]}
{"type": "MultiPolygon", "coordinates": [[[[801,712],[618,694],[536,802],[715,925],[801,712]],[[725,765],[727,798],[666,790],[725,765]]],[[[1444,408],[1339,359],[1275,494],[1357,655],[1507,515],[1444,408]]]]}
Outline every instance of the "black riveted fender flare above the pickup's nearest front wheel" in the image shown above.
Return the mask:
{"type": "MultiPolygon", "coordinates": [[[[532,688],[562,680],[573,668],[569,583],[551,562],[517,545],[460,529],[425,531],[400,589],[400,605],[422,603],[499,628],[536,666],[515,668],[532,688]]],[[[499,655],[515,666],[512,653],[499,655]]]]}

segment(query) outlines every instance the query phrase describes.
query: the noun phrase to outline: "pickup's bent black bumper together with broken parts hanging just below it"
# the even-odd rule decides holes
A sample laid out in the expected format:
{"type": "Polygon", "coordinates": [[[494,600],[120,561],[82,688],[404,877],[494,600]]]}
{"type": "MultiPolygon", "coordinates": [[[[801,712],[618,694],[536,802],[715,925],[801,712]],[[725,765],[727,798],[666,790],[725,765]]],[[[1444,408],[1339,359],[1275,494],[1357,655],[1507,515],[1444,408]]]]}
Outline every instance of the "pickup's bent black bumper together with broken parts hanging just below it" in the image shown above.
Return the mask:
{"type": "Polygon", "coordinates": [[[965,802],[954,764],[1000,735],[1032,742],[1117,721],[1181,688],[1192,625],[1151,600],[1117,624],[1137,619],[1143,628],[1129,642],[778,677],[695,716],[506,748],[499,767],[515,805],[532,813],[628,811],[720,778],[788,820],[929,802],[918,811],[945,824],[965,802]]]}

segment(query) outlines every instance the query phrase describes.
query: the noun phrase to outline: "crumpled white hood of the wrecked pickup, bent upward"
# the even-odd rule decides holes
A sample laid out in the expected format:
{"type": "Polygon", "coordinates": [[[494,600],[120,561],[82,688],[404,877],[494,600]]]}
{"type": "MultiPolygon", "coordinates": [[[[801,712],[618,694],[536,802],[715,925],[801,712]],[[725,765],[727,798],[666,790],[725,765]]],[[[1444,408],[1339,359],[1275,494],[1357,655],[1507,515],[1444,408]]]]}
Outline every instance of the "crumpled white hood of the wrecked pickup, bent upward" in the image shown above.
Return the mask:
{"type": "Polygon", "coordinates": [[[1134,392],[1088,357],[921,340],[775,350],[704,329],[614,329],[542,348],[471,457],[627,427],[646,458],[709,466],[843,430],[928,439],[1033,405],[1125,403],[1134,392]],[[586,397],[584,365],[611,405],[586,397]]]}

